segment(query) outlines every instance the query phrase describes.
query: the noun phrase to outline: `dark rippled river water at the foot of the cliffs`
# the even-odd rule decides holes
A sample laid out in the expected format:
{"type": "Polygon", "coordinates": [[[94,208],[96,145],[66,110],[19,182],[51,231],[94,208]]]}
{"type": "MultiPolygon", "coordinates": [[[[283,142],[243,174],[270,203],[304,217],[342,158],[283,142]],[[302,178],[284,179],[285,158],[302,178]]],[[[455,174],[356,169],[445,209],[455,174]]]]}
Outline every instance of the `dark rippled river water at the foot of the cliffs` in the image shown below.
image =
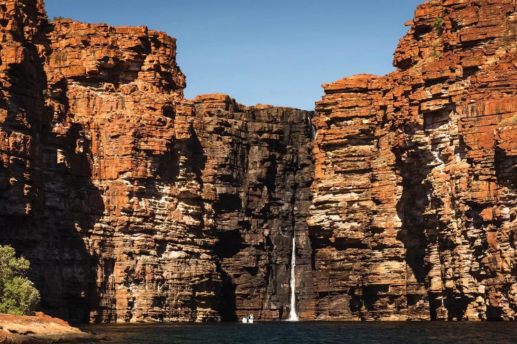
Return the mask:
{"type": "Polygon", "coordinates": [[[105,343],[517,343],[517,323],[258,322],[79,326],[105,343]]]}

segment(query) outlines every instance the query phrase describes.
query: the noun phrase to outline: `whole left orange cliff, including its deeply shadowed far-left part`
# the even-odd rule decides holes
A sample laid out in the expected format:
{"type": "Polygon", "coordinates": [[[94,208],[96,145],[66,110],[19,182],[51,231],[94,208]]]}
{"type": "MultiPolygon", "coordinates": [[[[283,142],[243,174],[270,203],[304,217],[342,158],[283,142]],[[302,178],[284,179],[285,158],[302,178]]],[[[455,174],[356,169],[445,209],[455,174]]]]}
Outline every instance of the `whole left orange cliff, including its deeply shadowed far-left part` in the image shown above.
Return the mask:
{"type": "Polygon", "coordinates": [[[219,319],[174,39],[49,23],[41,1],[7,1],[3,15],[1,241],[30,259],[43,310],[219,319]]]}

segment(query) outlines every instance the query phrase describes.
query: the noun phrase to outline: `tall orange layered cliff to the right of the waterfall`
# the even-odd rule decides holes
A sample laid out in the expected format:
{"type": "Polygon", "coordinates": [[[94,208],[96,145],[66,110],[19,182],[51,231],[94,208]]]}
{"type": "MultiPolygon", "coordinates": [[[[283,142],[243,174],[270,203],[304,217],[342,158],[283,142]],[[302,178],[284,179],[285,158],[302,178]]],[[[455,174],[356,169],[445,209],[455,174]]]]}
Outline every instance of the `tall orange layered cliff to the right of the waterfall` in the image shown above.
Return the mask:
{"type": "Polygon", "coordinates": [[[426,1],[396,72],[323,85],[316,319],[515,319],[515,1],[426,1]]]}

